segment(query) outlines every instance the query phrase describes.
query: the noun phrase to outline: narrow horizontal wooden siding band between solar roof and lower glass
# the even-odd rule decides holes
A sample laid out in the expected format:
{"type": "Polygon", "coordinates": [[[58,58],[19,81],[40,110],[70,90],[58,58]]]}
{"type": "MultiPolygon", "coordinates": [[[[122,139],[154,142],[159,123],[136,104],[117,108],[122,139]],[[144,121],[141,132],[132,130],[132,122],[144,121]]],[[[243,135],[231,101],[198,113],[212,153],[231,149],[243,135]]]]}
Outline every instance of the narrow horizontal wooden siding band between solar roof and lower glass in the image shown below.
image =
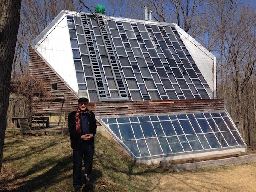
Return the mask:
{"type": "Polygon", "coordinates": [[[201,113],[224,109],[224,99],[95,102],[96,116],[201,113]]]}

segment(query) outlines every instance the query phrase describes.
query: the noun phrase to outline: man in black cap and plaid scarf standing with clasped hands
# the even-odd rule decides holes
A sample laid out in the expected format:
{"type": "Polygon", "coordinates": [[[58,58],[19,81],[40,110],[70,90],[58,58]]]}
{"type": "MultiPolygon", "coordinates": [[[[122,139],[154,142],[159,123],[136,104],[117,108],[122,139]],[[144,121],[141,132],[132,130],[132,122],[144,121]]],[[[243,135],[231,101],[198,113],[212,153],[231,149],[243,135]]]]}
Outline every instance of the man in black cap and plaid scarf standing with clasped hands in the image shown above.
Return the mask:
{"type": "Polygon", "coordinates": [[[68,115],[68,130],[70,132],[71,148],[73,149],[73,185],[75,192],[79,192],[82,187],[82,160],[84,160],[85,174],[89,178],[90,188],[93,187],[94,136],[97,124],[94,113],[87,108],[88,102],[89,100],[85,97],[78,99],[77,110],[68,115]]]}

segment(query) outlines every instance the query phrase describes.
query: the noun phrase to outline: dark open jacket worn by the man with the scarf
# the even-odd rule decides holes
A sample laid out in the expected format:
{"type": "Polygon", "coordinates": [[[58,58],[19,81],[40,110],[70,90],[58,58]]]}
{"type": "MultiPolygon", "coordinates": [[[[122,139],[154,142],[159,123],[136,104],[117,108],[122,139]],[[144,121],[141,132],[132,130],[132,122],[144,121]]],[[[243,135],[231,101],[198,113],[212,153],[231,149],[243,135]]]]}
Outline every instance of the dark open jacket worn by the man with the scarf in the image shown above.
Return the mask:
{"type": "MultiPolygon", "coordinates": [[[[89,122],[89,133],[95,135],[97,131],[97,124],[94,113],[92,111],[90,111],[90,113],[87,113],[87,118],[89,122]]],[[[73,150],[80,150],[82,145],[80,137],[82,134],[76,131],[76,111],[73,111],[68,115],[68,131],[70,132],[71,148],[73,150]]],[[[94,137],[90,139],[90,142],[94,148],[94,137]]]]}

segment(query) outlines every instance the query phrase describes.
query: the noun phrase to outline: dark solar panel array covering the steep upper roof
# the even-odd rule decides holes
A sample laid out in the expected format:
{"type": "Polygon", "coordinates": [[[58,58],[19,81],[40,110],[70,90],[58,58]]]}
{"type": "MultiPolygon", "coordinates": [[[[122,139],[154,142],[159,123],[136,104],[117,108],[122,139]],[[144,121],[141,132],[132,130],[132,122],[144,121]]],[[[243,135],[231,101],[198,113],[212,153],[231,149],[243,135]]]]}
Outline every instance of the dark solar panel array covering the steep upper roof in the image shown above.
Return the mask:
{"type": "Polygon", "coordinates": [[[67,16],[79,90],[90,101],[210,99],[174,26],[67,16]]]}

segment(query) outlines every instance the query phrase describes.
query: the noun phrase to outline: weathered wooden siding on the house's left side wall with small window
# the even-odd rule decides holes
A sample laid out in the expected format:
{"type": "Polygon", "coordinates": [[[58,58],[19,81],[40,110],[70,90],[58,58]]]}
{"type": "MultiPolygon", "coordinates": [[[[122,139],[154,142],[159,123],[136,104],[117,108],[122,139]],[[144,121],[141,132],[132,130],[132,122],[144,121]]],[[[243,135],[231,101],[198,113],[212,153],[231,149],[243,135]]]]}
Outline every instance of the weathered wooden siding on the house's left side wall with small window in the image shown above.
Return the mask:
{"type": "Polygon", "coordinates": [[[55,74],[55,72],[44,62],[44,60],[29,47],[29,72],[41,78],[46,85],[46,92],[52,97],[35,99],[32,107],[34,114],[65,113],[66,121],[68,114],[77,108],[77,97],[67,85],[55,74]],[[51,84],[57,83],[57,90],[51,91],[51,84]],[[65,99],[65,101],[60,101],[65,99]],[[57,100],[55,102],[55,100],[57,100]]]}

